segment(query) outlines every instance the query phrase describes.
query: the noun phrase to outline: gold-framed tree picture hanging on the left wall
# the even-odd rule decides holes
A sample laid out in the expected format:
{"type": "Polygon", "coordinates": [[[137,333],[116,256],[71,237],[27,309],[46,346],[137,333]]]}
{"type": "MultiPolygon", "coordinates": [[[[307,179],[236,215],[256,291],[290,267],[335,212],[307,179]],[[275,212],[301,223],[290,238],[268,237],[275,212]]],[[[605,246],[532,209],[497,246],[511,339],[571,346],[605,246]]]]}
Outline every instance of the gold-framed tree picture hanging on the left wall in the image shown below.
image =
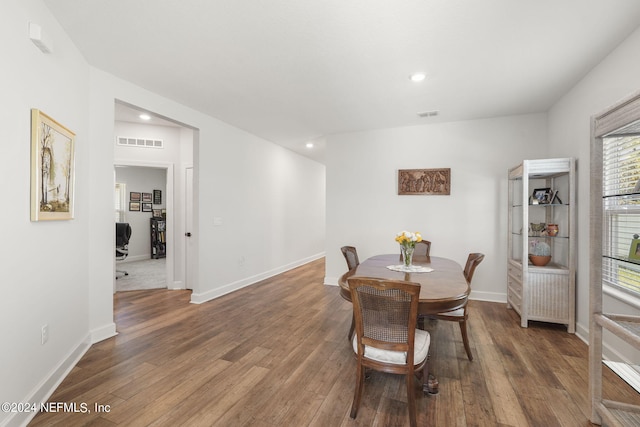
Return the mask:
{"type": "Polygon", "coordinates": [[[31,110],[31,221],[73,219],[75,136],[31,110]]]}

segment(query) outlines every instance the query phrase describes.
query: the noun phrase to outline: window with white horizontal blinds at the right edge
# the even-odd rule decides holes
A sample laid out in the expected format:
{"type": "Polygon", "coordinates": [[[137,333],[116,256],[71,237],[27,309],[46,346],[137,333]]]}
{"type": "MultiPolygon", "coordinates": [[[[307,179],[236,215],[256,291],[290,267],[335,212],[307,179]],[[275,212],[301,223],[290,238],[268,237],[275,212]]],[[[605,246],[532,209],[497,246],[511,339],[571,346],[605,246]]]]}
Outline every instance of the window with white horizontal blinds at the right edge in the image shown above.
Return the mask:
{"type": "Polygon", "coordinates": [[[640,297],[640,122],[602,140],[605,284],[640,297]]]}

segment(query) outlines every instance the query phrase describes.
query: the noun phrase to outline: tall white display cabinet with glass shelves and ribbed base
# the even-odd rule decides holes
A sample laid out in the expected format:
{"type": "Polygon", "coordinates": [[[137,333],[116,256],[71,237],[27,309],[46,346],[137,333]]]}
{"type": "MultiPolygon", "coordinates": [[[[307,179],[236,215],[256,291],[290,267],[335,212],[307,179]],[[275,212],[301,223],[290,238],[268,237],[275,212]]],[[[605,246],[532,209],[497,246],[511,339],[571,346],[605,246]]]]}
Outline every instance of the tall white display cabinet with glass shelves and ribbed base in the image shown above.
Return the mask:
{"type": "Polygon", "coordinates": [[[509,169],[507,307],[575,332],[575,159],[524,160],[509,169]],[[551,260],[536,266],[533,246],[551,260]]]}

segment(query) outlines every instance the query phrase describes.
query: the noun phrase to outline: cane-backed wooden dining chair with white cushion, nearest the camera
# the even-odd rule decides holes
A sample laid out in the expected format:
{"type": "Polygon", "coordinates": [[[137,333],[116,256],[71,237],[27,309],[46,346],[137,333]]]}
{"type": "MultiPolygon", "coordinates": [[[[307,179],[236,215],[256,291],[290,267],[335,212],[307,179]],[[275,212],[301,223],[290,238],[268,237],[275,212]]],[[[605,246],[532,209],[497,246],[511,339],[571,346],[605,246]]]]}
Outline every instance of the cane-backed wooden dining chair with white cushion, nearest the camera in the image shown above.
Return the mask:
{"type": "Polygon", "coordinates": [[[416,426],[414,375],[423,378],[429,332],[416,328],[420,284],[367,277],[348,279],[356,333],[356,388],[351,418],[356,418],[364,390],[365,368],[405,375],[409,421],[416,426]]]}

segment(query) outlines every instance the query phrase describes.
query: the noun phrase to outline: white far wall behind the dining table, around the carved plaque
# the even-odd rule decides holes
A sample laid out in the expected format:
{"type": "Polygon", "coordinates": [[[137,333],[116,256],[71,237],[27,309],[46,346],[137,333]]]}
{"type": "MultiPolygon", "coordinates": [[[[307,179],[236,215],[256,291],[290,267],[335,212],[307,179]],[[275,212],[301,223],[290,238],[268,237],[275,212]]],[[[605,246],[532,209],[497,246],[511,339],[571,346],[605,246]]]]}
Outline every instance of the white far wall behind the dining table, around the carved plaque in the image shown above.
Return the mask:
{"type": "Polygon", "coordinates": [[[395,234],[419,231],[431,254],[464,265],[486,255],[472,298],[506,301],[507,170],[546,156],[544,114],[355,132],[327,137],[325,282],[360,259],[399,253],[395,234]],[[451,195],[399,196],[398,169],[451,168],[451,195]]]}

